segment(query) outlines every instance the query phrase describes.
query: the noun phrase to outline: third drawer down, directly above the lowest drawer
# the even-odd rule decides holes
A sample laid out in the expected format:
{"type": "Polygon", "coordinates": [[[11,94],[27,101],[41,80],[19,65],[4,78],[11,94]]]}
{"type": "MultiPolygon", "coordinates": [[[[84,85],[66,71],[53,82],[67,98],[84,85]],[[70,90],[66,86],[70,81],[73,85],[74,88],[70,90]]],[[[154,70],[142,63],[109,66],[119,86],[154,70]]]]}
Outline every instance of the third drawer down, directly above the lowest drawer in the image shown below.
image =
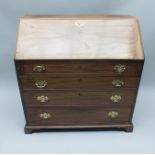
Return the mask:
{"type": "Polygon", "coordinates": [[[27,107],[47,106],[104,106],[131,107],[135,91],[90,92],[90,91],[24,91],[27,107]]]}

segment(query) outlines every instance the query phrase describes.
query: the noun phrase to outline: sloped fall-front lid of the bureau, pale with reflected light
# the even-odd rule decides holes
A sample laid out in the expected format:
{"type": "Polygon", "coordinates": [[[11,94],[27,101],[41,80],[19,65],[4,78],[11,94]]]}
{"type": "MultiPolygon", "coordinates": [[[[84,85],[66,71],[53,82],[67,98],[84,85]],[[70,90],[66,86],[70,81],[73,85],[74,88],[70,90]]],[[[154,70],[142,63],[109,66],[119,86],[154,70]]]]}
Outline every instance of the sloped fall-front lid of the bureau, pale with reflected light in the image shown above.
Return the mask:
{"type": "Polygon", "coordinates": [[[144,59],[144,54],[137,20],[130,16],[24,16],[15,59],[144,59]]]}

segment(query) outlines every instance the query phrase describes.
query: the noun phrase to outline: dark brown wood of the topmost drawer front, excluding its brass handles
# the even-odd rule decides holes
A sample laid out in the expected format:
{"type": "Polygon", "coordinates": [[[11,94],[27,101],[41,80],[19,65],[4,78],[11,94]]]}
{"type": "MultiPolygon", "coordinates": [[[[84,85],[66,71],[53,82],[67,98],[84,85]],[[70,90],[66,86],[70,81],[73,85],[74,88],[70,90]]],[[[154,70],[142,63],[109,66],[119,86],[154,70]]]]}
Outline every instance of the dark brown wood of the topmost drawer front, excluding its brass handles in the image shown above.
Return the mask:
{"type": "Polygon", "coordinates": [[[45,75],[45,76],[139,76],[143,66],[142,60],[16,60],[20,65],[20,75],[45,75]],[[114,66],[125,64],[123,73],[114,71],[114,66]],[[44,65],[45,70],[35,72],[33,68],[44,65]],[[43,73],[43,74],[42,74],[43,73]]]}

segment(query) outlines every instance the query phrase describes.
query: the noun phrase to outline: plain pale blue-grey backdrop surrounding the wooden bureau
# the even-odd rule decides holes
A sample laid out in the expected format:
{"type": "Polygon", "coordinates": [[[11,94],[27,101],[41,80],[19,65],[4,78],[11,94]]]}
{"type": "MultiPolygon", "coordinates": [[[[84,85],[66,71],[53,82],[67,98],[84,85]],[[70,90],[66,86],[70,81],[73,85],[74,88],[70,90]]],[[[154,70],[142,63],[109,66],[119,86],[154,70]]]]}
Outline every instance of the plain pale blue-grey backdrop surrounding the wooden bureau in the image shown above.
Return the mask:
{"type": "Polygon", "coordinates": [[[0,153],[155,153],[155,0],[0,0],[0,153]],[[129,14],[140,21],[145,66],[134,132],[45,132],[25,135],[13,63],[25,14],[129,14]]]}

